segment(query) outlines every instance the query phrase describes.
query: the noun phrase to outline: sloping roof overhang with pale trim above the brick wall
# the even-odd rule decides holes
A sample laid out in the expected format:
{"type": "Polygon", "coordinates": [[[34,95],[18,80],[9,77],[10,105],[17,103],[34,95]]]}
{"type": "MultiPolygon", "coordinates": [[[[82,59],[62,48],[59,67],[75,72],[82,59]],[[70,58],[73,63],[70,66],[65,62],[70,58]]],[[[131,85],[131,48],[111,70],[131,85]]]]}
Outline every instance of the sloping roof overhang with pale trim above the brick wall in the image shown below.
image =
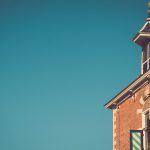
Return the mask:
{"type": "Polygon", "coordinates": [[[119,94],[117,94],[104,106],[109,109],[116,108],[125,100],[127,100],[129,97],[131,97],[141,87],[148,84],[149,81],[150,81],[150,70],[147,71],[145,74],[140,75],[136,80],[134,80],[130,85],[128,85],[125,89],[123,89],[119,94]]]}

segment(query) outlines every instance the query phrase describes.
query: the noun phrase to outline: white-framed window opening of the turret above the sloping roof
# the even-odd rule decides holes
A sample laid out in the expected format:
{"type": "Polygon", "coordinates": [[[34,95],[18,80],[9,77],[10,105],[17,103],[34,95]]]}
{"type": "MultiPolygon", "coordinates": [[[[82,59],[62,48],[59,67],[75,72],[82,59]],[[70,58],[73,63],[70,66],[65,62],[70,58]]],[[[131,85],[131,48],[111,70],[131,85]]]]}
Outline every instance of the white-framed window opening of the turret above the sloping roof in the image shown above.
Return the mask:
{"type": "Polygon", "coordinates": [[[150,42],[143,47],[142,73],[150,69],[150,42]]]}

